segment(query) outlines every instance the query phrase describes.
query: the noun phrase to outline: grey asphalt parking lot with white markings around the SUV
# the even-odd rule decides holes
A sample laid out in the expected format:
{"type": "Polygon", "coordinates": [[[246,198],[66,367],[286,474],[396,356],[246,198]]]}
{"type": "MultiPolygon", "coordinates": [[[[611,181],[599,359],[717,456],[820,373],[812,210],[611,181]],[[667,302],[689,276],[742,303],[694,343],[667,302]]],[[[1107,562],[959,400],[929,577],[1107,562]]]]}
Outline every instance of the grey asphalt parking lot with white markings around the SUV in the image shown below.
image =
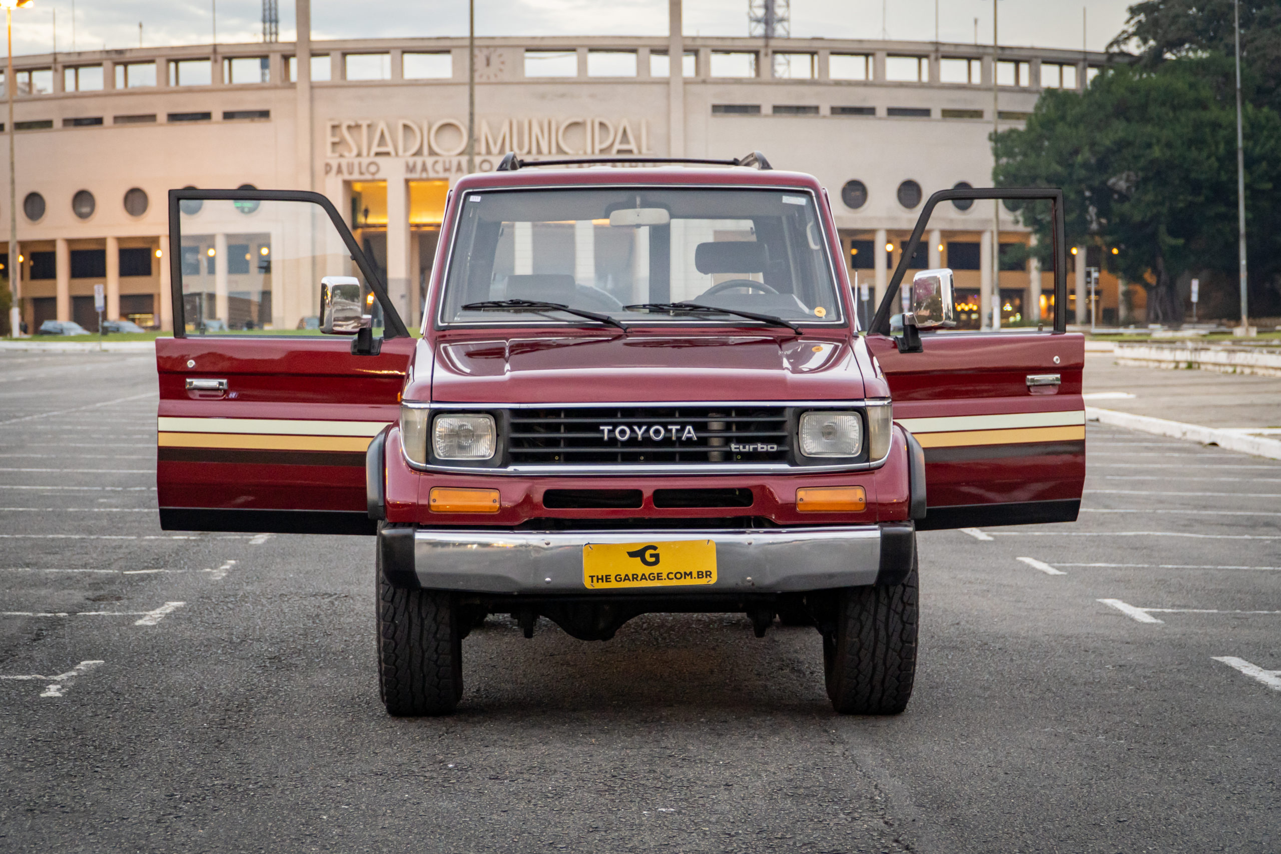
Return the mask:
{"type": "Polygon", "coordinates": [[[395,720],[371,540],[160,530],[150,357],[0,355],[0,850],[1281,849],[1281,462],[1091,425],[1079,522],[922,534],[898,717],[676,615],[395,720]]]}

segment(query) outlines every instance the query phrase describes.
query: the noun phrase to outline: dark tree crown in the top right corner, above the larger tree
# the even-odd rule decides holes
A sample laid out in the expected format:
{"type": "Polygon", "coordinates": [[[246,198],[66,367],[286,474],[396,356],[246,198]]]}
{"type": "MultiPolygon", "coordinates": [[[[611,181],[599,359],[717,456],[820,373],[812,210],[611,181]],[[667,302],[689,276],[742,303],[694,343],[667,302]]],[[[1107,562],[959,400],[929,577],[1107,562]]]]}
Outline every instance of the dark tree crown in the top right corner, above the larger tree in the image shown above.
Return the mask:
{"type": "MultiPolygon", "coordinates": [[[[1281,0],[1241,0],[1241,76],[1246,99],[1281,111],[1281,0]]],[[[1232,56],[1232,0],[1144,0],[1112,50],[1136,46],[1144,68],[1181,58],[1232,56]]]]}

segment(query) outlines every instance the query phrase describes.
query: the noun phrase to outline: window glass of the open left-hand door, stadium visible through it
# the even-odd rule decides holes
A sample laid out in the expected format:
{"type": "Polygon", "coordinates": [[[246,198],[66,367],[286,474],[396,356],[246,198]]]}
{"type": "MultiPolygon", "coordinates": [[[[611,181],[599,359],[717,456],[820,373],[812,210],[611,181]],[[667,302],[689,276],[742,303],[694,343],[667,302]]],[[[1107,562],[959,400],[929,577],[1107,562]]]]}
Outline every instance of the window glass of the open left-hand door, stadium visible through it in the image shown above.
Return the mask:
{"type": "MultiPolygon", "coordinates": [[[[350,275],[368,284],[329,215],[313,202],[206,198],[178,219],[188,334],[320,334],[320,279],[350,275]]],[[[377,300],[370,314],[374,334],[382,334],[377,300]]]]}

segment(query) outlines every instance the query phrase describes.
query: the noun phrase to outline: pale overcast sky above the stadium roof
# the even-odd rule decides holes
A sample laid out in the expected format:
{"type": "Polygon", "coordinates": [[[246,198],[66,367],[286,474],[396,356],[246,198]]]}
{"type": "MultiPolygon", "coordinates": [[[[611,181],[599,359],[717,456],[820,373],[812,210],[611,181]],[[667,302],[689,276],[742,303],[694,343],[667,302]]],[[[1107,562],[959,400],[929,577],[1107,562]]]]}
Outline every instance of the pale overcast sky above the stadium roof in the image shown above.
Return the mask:
{"type": "MultiPolygon", "coordinates": [[[[1102,50],[1125,23],[1134,0],[1000,0],[1000,42],[1036,47],[1102,50]]],[[[14,54],[142,44],[209,44],[218,8],[219,42],[261,41],[260,0],[36,0],[14,12],[14,54]]],[[[943,41],[991,44],[990,0],[792,0],[792,35],[830,38],[931,41],[935,8],[943,41]],[[881,10],[886,10],[883,19],[881,10]]],[[[685,33],[746,36],[748,0],[687,0],[685,33]]],[[[282,0],[281,41],[293,40],[293,0],[282,0]]],[[[314,38],[465,36],[464,0],[313,0],[314,38]]],[[[477,0],[482,36],[664,35],[666,0],[477,0]]]]}

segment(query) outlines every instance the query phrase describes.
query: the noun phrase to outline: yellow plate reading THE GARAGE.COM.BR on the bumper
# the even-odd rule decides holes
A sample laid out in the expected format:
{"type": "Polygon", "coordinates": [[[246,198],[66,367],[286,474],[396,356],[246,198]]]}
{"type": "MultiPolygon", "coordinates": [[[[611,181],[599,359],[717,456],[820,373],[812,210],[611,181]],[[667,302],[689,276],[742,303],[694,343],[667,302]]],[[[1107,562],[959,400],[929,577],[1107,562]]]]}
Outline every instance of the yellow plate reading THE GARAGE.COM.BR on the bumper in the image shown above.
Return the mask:
{"type": "Polygon", "coordinates": [[[588,543],[583,584],[591,590],[716,584],[716,543],[588,543]]]}

